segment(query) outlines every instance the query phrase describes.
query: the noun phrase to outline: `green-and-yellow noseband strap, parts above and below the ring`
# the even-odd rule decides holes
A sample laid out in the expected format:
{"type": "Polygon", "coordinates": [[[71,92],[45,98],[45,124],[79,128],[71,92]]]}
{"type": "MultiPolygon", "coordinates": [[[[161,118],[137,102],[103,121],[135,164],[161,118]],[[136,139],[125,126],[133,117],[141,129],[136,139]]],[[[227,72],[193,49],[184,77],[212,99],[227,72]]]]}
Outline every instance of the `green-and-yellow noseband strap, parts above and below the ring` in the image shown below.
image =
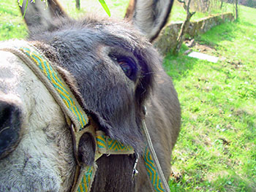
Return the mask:
{"type": "MultiPolygon", "coordinates": [[[[65,81],[59,77],[56,69],[53,68],[50,61],[45,58],[35,47],[27,42],[18,41],[19,47],[7,46],[1,50],[9,51],[17,55],[32,72],[45,85],[50,94],[56,100],[64,112],[67,121],[71,120],[75,124],[75,131],[83,130],[89,122],[89,118],[83,111],[78,101],[69,90],[65,81]]],[[[70,121],[68,123],[71,123],[70,121]]],[[[96,166],[79,167],[78,183],[75,184],[75,191],[90,191],[91,184],[94,180],[96,166]]]]}

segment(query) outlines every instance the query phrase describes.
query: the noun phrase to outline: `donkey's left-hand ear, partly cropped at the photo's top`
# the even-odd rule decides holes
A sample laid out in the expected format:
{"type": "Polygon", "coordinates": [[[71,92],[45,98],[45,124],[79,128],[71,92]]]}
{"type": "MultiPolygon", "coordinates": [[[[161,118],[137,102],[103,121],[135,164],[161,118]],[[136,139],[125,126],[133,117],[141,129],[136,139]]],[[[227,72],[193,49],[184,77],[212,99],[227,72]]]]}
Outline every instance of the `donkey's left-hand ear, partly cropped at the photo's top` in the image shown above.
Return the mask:
{"type": "Polygon", "coordinates": [[[47,1],[48,4],[41,0],[35,0],[34,2],[30,2],[29,0],[23,1],[20,11],[22,15],[25,13],[24,19],[29,31],[34,27],[49,28],[49,23],[51,20],[54,20],[54,18],[67,17],[67,14],[58,1],[47,1]]]}

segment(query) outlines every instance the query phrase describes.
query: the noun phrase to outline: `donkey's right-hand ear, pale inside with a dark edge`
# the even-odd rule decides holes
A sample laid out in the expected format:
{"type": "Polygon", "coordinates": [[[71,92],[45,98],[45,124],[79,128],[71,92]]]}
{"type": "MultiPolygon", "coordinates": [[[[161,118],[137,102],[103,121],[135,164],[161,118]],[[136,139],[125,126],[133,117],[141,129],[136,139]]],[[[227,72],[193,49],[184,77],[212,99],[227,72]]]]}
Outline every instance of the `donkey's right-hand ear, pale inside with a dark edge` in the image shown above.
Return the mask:
{"type": "Polygon", "coordinates": [[[152,42],[165,26],[173,0],[130,0],[125,18],[152,42]]]}

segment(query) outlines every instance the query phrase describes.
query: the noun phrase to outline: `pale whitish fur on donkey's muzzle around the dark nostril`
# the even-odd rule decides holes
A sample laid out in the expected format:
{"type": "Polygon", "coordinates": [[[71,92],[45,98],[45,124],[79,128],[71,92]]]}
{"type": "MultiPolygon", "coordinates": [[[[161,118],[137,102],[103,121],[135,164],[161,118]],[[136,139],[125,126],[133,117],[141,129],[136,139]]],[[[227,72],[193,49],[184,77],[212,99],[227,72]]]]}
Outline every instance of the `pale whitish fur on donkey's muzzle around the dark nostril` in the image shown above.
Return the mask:
{"type": "Polygon", "coordinates": [[[67,191],[75,161],[59,105],[19,58],[4,51],[0,58],[0,101],[19,108],[22,131],[15,150],[7,148],[0,160],[0,191],[67,191]]]}

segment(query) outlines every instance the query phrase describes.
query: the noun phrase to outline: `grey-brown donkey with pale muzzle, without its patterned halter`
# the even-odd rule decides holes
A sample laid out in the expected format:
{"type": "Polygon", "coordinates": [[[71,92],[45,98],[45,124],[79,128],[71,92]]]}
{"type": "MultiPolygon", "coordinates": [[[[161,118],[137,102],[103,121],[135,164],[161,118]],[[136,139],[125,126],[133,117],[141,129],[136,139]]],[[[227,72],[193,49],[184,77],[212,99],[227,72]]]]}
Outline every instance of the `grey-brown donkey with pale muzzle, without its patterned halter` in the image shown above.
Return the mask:
{"type": "MultiPolygon", "coordinates": [[[[91,191],[154,191],[143,163],[143,120],[166,180],[181,122],[173,82],[149,42],[173,1],[133,1],[129,20],[74,20],[56,0],[48,0],[45,12],[40,3],[26,10],[29,38],[0,44],[0,191],[72,191],[75,180],[63,110],[25,62],[4,49],[27,43],[54,64],[99,130],[138,154],[102,155],[91,191]],[[136,158],[138,174],[132,177],[136,158]]],[[[78,153],[83,164],[94,164],[91,134],[80,138],[78,153]]]]}

